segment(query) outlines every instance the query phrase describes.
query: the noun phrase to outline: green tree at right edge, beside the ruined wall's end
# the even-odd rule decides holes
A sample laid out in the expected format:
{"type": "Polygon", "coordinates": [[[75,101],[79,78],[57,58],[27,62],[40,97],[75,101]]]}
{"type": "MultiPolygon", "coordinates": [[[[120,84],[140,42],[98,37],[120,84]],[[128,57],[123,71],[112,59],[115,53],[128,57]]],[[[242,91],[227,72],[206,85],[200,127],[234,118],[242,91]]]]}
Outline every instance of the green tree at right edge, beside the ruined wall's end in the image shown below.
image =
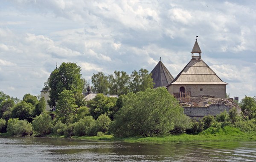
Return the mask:
{"type": "Polygon", "coordinates": [[[249,119],[256,118],[256,98],[245,95],[241,100],[241,110],[249,119]]]}

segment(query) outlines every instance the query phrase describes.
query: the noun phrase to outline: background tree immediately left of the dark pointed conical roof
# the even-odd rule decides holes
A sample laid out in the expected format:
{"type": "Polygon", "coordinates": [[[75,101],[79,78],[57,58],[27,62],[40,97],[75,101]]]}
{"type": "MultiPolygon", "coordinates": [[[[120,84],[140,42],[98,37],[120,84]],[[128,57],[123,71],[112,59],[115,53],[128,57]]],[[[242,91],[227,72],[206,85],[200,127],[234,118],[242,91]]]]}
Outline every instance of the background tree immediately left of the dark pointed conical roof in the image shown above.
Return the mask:
{"type": "Polygon", "coordinates": [[[134,70],[130,75],[129,89],[133,93],[145,91],[147,88],[153,88],[154,82],[151,78],[151,73],[148,74],[147,69],[140,69],[139,72],[134,70]]]}

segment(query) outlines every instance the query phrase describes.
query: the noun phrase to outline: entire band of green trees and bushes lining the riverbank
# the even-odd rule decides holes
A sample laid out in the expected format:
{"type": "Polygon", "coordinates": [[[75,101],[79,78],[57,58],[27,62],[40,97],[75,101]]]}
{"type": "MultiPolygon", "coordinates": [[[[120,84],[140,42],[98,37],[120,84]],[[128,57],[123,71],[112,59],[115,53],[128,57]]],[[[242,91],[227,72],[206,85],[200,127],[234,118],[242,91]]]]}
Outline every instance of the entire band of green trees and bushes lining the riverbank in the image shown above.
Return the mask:
{"type": "Polygon", "coordinates": [[[83,100],[82,92],[87,86],[80,71],[81,68],[74,63],[63,63],[51,73],[45,83],[45,89],[50,93],[48,104],[52,107],[49,112],[45,111],[44,98],[26,94],[20,101],[0,92],[0,132],[11,136],[113,134],[130,137],[198,134],[203,131],[215,133],[223,131],[226,126],[245,132],[256,131],[255,97],[245,96],[242,99],[240,115],[236,109],[231,109],[216,117],[192,120],[184,115],[183,108],[166,88],[152,89],[152,83],[144,84],[144,80],[149,82],[145,78],[150,75],[143,69],[138,74],[135,74],[136,71],[132,73],[131,76],[137,76],[134,77],[136,79],[123,75],[124,72],[115,72],[115,76],[105,76],[101,72],[93,74],[94,92],[99,92],[99,87],[103,86],[101,81],[104,80],[99,77],[103,76],[104,83],[108,85],[103,93],[110,93],[115,90],[113,87],[118,87],[115,92],[119,92],[119,98],[99,93],[90,101],[83,100]],[[119,90],[120,83],[124,84],[122,76],[130,82],[126,81],[125,85],[129,86],[124,94],[121,94],[123,90],[119,90]],[[131,85],[134,88],[129,88],[131,85]]]}

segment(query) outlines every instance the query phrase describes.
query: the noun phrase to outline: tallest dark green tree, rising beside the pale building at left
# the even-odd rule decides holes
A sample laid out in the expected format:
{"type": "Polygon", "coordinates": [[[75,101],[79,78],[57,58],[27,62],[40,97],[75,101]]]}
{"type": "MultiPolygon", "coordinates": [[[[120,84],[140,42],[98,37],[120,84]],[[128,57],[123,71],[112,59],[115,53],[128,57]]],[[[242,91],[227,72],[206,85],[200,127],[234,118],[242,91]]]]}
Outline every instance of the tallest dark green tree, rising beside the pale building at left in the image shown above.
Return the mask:
{"type": "Polygon", "coordinates": [[[81,76],[81,67],[76,63],[62,63],[60,67],[53,70],[45,87],[49,88],[48,104],[51,108],[56,106],[59,95],[64,90],[71,90],[74,94],[82,93],[84,79],[81,76]]]}

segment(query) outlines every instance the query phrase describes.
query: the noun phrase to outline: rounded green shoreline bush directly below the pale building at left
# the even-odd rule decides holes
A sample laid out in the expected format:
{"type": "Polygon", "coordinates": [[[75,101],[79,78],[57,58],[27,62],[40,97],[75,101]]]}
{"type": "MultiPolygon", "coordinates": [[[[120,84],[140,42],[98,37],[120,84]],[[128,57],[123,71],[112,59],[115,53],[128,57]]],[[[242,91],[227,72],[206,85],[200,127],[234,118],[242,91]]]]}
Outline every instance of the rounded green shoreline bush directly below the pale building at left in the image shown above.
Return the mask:
{"type": "Polygon", "coordinates": [[[53,127],[51,116],[47,113],[36,116],[32,122],[32,127],[35,136],[44,136],[51,133],[53,127]]]}

